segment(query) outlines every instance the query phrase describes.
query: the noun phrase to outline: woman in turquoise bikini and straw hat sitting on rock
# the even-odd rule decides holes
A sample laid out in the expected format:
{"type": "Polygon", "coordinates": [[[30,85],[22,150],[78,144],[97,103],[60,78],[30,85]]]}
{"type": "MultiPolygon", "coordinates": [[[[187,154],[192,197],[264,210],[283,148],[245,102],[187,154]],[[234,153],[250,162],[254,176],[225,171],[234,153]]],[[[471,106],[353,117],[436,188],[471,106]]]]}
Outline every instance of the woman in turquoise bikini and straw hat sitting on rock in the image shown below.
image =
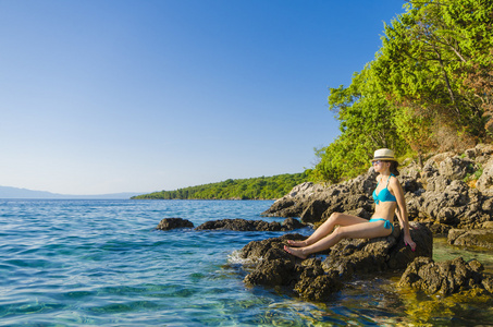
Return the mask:
{"type": "Polygon", "coordinates": [[[284,250],[299,258],[332,247],[343,239],[373,239],[390,235],[394,231],[394,213],[404,230],[404,242],[412,251],[416,243],[409,233],[406,202],[404,191],[397,180],[398,162],[394,152],[381,148],[374,152],[372,165],[377,177],[377,189],[373,191],[375,203],[374,214],[370,220],[365,218],[333,213],[308,239],[305,241],[287,241],[291,246],[284,250]],[[338,226],[334,230],[334,228],[338,226]]]}

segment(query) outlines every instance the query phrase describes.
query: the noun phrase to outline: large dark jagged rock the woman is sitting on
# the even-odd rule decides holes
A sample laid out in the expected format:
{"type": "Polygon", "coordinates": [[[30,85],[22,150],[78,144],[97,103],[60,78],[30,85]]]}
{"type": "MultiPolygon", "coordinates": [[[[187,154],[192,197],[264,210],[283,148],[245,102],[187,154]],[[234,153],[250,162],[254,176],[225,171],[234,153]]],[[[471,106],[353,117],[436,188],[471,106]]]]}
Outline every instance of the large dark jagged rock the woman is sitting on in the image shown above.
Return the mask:
{"type": "Polygon", "coordinates": [[[411,227],[416,252],[404,244],[400,232],[372,240],[343,240],[332,247],[323,262],[319,257],[301,261],[283,250],[287,240],[306,239],[300,234],[252,241],[239,254],[254,263],[244,281],[269,287],[288,286],[303,298],[323,301],[344,287],[343,280],[350,280],[355,275],[404,269],[417,256],[431,257],[431,231],[420,223],[412,222],[411,227]]]}

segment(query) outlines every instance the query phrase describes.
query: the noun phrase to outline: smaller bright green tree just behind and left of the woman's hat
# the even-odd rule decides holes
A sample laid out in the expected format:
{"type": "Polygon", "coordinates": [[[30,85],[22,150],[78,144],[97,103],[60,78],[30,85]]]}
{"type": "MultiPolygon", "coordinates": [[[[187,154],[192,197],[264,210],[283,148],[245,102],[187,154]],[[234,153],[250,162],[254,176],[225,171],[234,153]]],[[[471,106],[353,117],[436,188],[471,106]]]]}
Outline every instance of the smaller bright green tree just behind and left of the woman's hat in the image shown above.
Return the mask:
{"type": "Polygon", "coordinates": [[[330,88],[329,108],[341,122],[341,135],[317,150],[316,180],[338,182],[363,172],[377,148],[407,150],[394,123],[400,111],[380,92],[371,64],[355,73],[348,87],[330,88]]]}

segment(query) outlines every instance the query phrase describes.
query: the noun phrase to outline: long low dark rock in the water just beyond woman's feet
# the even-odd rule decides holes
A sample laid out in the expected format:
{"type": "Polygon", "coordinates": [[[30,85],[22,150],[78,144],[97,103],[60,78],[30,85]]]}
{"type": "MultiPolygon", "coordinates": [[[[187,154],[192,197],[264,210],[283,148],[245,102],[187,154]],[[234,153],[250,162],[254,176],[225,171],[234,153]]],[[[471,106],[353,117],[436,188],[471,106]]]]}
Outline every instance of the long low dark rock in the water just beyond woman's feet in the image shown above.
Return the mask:
{"type": "Polygon", "coordinates": [[[304,228],[306,225],[297,219],[287,218],[282,223],[278,221],[247,220],[247,219],[221,219],[206,221],[196,230],[226,229],[234,231],[289,231],[304,228]]]}

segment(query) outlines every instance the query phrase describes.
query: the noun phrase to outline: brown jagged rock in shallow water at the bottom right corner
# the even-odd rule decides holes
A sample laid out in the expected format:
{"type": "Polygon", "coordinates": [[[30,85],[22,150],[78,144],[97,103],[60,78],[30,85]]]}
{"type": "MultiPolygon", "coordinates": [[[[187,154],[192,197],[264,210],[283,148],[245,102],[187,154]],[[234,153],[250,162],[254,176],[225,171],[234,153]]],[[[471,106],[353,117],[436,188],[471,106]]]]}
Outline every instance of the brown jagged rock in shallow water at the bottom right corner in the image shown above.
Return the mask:
{"type": "Polygon", "coordinates": [[[435,263],[430,257],[418,257],[407,267],[398,286],[442,295],[474,288],[491,292],[491,279],[483,276],[483,269],[482,264],[476,259],[466,263],[458,257],[435,263]]]}

